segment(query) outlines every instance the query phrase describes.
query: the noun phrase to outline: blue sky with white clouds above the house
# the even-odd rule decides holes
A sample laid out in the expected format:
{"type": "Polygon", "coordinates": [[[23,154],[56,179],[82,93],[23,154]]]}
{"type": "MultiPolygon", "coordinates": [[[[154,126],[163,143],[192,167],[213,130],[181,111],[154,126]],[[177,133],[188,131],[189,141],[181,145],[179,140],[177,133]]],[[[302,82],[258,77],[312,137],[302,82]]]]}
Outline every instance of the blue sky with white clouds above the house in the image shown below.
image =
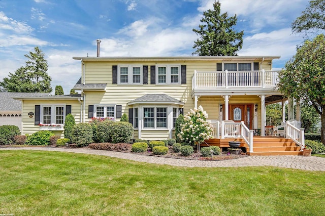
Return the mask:
{"type": "MultiPolygon", "coordinates": [[[[214,0],[0,0],[0,80],[25,65],[24,55],[38,46],[48,62],[53,92],[69,94],[81,76],[80,60],[96,56],[192,56],[193,28],[214,0]]],[[[237,15],[244,30],[239,56],[281,56],[281,69],[296,54],[303,35],[291,23],[307,0],[220,0],[221,13],[237,15]]]]}

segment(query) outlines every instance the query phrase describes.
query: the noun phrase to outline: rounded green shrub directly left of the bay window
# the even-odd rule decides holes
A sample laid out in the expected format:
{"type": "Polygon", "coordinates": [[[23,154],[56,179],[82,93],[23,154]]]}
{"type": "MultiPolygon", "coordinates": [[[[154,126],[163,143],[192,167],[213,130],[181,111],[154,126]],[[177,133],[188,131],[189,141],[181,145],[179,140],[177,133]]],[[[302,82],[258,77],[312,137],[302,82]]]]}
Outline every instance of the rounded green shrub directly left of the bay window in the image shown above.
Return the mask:
{"type": "Polygon", "coordinates": [[[110,132],[112,143],[127,143],[132,138],[133,126],[128,122],[114,122],[110,132]]]}

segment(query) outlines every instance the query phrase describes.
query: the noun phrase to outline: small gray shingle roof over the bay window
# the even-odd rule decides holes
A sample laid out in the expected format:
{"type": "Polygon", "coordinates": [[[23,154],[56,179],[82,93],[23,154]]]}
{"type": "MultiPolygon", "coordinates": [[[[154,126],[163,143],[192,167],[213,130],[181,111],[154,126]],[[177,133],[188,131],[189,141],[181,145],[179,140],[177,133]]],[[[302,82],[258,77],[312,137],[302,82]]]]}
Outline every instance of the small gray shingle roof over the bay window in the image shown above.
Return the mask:
{"type": "Polygon", "coordinates": [[[184,105],[183,102],[172,98],[166,94],[147,94],[140,98],[137,98],[133,101],[128,102],[128,104],[136,104],[136,103],[165,103],[165,104],[180,104],[184,105]]]}

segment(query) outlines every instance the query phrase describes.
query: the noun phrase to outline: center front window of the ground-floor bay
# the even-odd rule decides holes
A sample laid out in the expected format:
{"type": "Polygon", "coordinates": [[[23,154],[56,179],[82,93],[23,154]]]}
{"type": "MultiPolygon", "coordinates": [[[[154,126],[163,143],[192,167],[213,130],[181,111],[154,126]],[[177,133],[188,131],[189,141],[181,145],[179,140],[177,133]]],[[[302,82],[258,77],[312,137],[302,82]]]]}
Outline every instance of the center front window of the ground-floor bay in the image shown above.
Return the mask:
{"type": "Polygon", "coordinates": [[[144,107],[144,128],[167,128],[167,107],[144,107]]]}

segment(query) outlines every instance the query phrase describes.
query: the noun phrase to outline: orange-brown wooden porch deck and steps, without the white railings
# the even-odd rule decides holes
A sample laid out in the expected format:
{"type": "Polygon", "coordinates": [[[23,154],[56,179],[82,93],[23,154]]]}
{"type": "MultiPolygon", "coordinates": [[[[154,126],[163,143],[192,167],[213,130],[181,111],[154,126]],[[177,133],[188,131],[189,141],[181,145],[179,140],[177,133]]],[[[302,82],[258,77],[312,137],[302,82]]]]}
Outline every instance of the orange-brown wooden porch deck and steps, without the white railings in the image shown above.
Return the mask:
{"type": "MultiPolygon", "coordinates": [[[[293,140],[283,137],[254,136],[253,152],[248,152],[249,147],[241,138],[210,139],[206,143],[226,150],[226,148],[229,148],[230,141],[241,142],[241,148],[246,150],[248,155],[302,155],[300,146],[297,146],[293,140]]],[[[207,144],[203,143],[201,146],[208,146],[207,144]]]]}

